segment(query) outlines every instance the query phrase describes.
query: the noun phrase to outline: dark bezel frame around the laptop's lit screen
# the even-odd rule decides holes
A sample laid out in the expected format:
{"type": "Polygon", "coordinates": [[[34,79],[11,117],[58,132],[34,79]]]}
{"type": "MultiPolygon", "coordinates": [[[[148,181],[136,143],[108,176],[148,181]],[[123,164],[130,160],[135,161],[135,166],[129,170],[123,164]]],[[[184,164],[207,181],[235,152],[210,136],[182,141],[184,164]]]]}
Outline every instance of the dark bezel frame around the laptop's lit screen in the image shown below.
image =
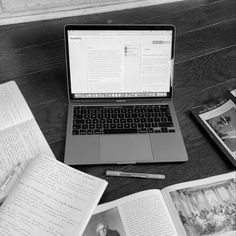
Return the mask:
{"type": "Polygon", "coordinates": [[[150,101],[156,99],[168,99],[173,97],[173,77],[174,77],[174,51],[175,51],[175,26],[174,25],[66,25],[65,26],[65,53],[66,53],[66,74],[67,74],[67,87],[68,99],[70,101],[84,101],[84,102],[116,102],[117,100],[125,101],[150,101]],[[71,92],[71,79],[70,79],[70,63],[69,63],[69,42],[68,32],[71,30],[170,30],[172,31],[172,45],[171,45],[171,78],[170,78],[170,92],[166,97],[121,97],[117,98],[74,98],[71,92]]]}

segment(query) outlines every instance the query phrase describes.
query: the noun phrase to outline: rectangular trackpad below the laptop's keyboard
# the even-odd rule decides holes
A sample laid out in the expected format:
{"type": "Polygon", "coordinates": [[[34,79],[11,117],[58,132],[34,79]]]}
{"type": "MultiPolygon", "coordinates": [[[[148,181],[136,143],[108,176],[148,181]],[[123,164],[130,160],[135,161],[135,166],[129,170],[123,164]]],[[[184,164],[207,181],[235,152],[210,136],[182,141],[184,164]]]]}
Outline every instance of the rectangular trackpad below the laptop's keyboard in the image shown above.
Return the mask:
{"type": "Polygon", "coordinates": [[[100,137],[101,161],[126,163],[153,160],[149,135],[107,135],[100,137]]]}

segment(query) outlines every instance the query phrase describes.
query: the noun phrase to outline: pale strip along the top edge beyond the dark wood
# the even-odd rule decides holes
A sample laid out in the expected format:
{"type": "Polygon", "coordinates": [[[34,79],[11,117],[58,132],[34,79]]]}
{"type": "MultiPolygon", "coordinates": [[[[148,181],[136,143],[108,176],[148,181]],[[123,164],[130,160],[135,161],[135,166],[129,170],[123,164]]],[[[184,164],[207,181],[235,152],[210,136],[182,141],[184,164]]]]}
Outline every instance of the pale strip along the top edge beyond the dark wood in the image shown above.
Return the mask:
{"type": "Polygon", "coordinates": [[[2,0],[0,25],[159,6],[176,1],[182,0],[2,0]]]}

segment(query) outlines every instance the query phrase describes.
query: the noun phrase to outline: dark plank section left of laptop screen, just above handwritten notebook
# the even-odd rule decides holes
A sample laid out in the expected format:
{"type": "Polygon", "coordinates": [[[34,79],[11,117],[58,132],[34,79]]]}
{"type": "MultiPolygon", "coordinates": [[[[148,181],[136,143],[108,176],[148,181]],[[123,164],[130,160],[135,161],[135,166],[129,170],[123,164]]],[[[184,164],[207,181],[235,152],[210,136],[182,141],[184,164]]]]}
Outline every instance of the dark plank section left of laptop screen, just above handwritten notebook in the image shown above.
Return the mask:
{"type": "Polygon", "coordinates": [[[65,68],[63,40],[10,52],[5,49],[0,54],[0,76],[6,80],[27,75],[32,78],[33,74],[60,67],[65,68]]]}

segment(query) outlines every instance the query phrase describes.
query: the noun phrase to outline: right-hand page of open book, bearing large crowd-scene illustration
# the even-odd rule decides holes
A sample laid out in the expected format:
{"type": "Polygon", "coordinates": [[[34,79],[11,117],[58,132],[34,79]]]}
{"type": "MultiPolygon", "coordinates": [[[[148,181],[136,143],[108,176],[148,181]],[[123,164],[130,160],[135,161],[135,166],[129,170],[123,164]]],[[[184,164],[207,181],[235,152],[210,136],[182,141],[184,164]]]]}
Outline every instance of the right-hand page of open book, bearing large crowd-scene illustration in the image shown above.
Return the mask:
{"type": "Polygon", "coordinates": [[[236,172],[162,189],[181,236],[236,235],[236,172]]]}

